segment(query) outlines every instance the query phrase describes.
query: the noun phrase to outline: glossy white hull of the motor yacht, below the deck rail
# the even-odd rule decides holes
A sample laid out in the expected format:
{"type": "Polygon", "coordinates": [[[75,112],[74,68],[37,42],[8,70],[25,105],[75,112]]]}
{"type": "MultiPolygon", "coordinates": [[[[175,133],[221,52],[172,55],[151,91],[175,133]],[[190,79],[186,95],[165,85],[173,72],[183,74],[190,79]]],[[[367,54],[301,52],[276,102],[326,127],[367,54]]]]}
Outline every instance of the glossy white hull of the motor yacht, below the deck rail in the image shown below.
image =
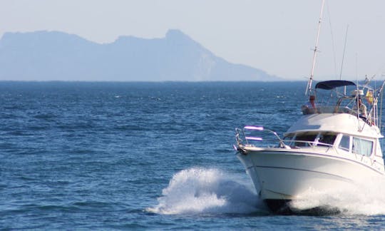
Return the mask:
{"type": "MultiPolygon", "coordinates": [[[[304,150],[264,149],[237,154],[261,199],[271,210],[288,207],[290,200],[312,193],[332,193],[383,177],[359,157],[351,158],[304,150]]],[[[334,153],[335,154],[335,153],[334,153]]]]}

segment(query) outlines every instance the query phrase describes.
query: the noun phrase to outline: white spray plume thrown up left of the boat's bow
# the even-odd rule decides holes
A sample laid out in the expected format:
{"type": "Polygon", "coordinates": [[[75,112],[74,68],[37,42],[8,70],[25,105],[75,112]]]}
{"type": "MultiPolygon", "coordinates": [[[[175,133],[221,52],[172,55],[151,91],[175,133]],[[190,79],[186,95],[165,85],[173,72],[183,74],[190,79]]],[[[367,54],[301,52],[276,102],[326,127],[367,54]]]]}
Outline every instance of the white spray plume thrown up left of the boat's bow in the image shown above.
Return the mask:
{"type": "Polygon", "coordinates": [[[158,205],[159,214],[251,213],[264,210],[257,195],[234,176],[217,169],[189,168],[173,175],[158,205]]]}

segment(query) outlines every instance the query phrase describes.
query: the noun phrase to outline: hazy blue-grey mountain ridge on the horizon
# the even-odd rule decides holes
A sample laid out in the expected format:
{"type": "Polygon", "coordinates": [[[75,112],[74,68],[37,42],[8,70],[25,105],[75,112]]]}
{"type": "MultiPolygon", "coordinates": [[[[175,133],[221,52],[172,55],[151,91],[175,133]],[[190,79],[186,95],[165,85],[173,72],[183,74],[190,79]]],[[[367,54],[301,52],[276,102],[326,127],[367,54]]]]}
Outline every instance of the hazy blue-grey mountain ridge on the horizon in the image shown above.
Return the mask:
{"type": "Polygon", "coordinates": [[[120,36],[94,43],[58,31],[6,33],[0,40],[0,80],[21,81],[278,81],[233,64],[178,30],[165,38],[120,36]]]}

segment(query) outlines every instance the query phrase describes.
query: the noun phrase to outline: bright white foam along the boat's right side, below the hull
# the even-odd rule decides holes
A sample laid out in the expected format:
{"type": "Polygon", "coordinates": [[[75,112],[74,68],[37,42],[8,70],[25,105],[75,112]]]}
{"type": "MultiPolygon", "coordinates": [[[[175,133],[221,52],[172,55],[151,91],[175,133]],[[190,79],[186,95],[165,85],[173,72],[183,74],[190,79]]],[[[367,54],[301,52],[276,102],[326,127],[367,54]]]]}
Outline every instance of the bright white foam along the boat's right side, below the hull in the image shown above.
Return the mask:
{"type": "Polygon", "coordinates": [[[312,207],[334,207],[347,215],[385,215],[385,178],[367,179],[344,189],[327,192],[308,190],[293,200],[291,205],[299,210],[312,207]]]}

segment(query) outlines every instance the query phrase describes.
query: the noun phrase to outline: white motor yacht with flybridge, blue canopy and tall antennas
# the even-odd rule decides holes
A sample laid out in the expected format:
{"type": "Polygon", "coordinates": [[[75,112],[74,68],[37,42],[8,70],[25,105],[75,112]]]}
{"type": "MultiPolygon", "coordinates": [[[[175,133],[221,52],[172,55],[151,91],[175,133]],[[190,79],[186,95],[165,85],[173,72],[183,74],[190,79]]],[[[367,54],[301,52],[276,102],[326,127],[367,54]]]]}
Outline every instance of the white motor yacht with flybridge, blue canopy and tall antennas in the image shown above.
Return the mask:
{"type": "MultiPolygon", "coordinates": [[[[260,125],[235,129],[237,158],[258,196],[275,213],[301,212],[291,201],[304,199],[309,192],[328,193],[385,178],[380,143],[385,81],[378,88],[371,87],[369,79],[320,81],[313,86],[318,36],[319,30],[305,93],[316,99],[314,103],[299,104],[302,115],[282,138],[260,125]]],[[[324,208],[309,211],[319,209],[324,208]]]]}

